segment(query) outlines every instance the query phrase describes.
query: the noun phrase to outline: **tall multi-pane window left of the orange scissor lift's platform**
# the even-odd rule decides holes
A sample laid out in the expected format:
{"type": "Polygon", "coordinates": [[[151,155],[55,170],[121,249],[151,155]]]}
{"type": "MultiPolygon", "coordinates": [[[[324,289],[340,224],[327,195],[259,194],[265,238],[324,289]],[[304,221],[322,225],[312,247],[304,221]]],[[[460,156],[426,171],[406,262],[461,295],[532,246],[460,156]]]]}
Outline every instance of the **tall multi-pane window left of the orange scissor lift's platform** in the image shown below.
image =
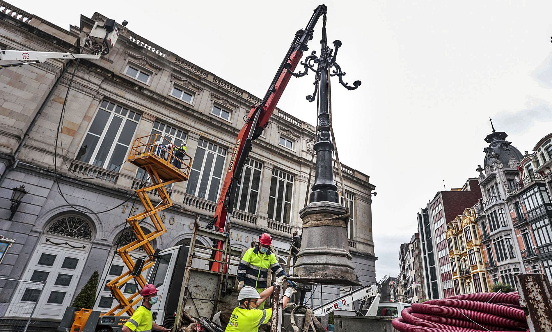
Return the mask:
{"type": "Polygon", "coordinates": [[[139,120],[139,113],[103,101],[75,159],[118,171],[126,159],[139,120]]]}

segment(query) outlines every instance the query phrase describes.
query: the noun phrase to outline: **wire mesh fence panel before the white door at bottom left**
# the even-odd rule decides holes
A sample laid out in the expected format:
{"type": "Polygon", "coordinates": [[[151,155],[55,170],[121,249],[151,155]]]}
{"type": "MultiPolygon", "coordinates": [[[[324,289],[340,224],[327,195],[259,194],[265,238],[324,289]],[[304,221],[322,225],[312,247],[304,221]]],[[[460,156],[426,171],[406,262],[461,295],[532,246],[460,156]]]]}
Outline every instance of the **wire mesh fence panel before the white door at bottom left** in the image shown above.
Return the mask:
{"type": "Polygon", "coordinates": [[[0,331],[25,332],[39,303],[44,282],[0,278],[2,295],[11,298],[0,318],[0,331]]]}

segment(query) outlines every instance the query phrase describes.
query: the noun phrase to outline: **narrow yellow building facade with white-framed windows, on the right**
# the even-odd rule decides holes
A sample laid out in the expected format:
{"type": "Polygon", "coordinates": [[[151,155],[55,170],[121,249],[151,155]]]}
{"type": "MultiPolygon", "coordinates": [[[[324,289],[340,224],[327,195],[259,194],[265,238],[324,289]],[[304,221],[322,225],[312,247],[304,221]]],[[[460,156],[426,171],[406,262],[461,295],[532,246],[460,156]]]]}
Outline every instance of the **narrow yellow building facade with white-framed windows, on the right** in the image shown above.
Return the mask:
{"type": "Polygon", "coordinates": [[[447,225],[447,245],[454,294],[489,292],[475,209],[468,208],[447,225]]]}

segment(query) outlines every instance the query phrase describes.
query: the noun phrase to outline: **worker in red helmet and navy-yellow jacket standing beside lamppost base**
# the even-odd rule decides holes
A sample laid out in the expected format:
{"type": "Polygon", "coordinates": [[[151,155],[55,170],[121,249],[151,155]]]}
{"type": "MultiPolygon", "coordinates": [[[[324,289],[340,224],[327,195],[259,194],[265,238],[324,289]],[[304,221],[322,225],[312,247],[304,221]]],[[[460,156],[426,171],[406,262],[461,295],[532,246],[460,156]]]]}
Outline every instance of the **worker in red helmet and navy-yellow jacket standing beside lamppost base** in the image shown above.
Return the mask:
{"type": "MultiPolygon", "coordinates": [[[[262,293],[267,286],[268,268],[276,273],[277,277],[289,277],[278,263],[276,255],[270,251],[270,245],[272,245],[272,238],[268,233],[264,233],[259,238],[259,245],[245,252],[238,267],[238,291],[241,291],[244,286],[251,286],[262,293]]],[[[264,303],[261,303],[259,309],[263,308],[264,303]]]]}

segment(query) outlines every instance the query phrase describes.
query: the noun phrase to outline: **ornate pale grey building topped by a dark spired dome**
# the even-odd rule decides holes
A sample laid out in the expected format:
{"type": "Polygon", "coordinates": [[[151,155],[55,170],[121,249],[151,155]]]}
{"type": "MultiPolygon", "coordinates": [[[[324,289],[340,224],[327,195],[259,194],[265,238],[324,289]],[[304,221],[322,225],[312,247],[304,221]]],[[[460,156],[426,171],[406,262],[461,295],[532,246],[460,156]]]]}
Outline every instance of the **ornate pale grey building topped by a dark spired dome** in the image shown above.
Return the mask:
{"type": "Polygon", "coordinates": [[[507,134],[493,129],[485,141],[485,159],[479,166],[483,197],[475,205],[477,226],[481,229],[485,267],[491,284],[505,282],[514,288],[514,275],[521,273],[521,253],[514,233],[508,201],[516,187],[521,152],[506,141],[507,134]],[[484,173],[485,172],[485,173],[484,173]]]}

